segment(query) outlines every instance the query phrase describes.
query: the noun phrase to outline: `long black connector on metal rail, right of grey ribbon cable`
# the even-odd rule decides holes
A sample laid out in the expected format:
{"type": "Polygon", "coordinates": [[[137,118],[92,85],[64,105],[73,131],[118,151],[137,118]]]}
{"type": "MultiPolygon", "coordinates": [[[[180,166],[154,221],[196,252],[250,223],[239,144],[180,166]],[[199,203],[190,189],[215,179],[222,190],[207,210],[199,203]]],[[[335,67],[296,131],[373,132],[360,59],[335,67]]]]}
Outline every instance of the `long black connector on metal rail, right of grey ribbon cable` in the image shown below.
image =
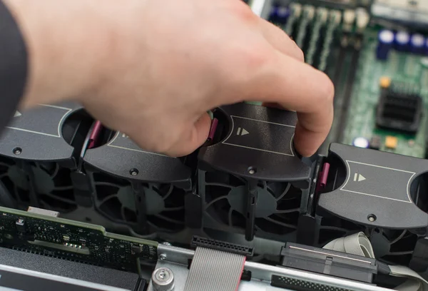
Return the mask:
{"type": "Polygon", "coordinates": [[[284,267],[372,283],[376,260],[288,242],[281,251],[284,267]]]}

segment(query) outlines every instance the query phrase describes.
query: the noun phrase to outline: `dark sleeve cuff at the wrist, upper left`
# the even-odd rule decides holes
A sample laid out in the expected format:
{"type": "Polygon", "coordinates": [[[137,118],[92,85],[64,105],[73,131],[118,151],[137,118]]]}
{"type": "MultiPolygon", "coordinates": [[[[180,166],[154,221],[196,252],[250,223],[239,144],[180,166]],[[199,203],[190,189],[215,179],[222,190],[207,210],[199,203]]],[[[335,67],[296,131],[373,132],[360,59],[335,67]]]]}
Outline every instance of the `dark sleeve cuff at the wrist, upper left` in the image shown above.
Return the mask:
{"type": "Polygon", "coordinates": [[[0,133],[24,95],[27,51],[21,31],[0,0],[0,133]]]}

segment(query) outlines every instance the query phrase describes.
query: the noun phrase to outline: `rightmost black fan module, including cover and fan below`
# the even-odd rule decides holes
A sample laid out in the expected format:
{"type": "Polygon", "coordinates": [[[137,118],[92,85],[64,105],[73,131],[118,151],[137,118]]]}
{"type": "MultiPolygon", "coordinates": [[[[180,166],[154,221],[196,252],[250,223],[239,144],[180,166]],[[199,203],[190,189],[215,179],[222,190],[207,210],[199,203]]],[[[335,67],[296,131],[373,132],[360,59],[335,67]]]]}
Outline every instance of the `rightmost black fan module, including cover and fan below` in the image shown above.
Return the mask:
{"type": "Polygon", "coordinates": [[[332,143],[325,162],[317,245],[363,231],[379,260],[409,265],[427,234],[428,161],[332,143]]]}

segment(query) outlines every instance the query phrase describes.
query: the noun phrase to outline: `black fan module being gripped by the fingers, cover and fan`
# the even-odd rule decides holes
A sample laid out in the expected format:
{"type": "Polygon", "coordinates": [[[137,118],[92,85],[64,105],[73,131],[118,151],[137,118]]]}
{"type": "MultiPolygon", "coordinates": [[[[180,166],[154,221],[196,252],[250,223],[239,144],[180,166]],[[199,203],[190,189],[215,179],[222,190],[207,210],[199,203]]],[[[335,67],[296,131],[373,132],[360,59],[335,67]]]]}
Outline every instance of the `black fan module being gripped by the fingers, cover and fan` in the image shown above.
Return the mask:
{"type": "Polygon", "coordinates": [[[296,113],[238,103],[214,118],[213,139],[198,155],[204,227],[284,240],[306,210],[311,175],[292,145],[296,113]]]}

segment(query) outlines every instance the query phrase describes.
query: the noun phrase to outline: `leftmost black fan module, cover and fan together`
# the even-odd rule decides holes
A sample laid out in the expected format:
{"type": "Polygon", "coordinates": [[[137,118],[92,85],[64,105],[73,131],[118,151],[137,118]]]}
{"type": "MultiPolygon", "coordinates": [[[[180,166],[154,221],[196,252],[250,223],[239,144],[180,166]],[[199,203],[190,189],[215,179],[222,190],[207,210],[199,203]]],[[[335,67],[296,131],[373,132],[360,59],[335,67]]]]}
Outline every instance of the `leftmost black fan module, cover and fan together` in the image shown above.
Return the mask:
{"type": "Polygon", "coordinates": [[[93,123],[75,103],[16,111],[0,142],[0,180],[17,207],[71,213],[78,207],[72,172],[93,123]]]}

